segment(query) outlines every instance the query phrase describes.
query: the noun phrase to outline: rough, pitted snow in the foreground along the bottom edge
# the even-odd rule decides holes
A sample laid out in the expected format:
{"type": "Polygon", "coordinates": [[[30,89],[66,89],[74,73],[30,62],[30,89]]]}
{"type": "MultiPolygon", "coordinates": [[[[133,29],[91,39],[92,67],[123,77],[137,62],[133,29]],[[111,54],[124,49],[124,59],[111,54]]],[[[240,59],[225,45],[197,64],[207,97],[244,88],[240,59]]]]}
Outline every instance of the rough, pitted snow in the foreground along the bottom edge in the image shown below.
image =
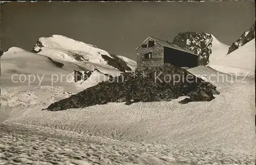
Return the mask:
{"type": "Polygon", "coordinates": [[[22,164],[66,165],[210,165],[223,162],[253,164],[255,161],[254,155],[227,154],[210,148],[183,150],[179,147],[124,142],[34,125],[2,123],[0,129],[4,144],[0,147],[5,151],[0,158],[3,164],[17,164],[19,161],[22,164]]]}

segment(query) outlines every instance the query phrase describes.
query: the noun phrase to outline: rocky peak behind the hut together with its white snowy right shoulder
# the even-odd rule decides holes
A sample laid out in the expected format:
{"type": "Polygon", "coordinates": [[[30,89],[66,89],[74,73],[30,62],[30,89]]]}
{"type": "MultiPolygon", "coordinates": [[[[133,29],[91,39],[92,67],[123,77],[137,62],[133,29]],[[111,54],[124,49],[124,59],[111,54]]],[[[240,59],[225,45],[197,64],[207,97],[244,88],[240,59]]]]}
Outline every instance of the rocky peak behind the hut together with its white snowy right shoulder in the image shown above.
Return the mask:
{"type": "Polygon", "coordinates": [[[199,65],[208,65],[211,60],[226,54],[228,50],[228,45],[208,33],[180,32],[174,38],[173,43],[198,54],[199,65]]]}

